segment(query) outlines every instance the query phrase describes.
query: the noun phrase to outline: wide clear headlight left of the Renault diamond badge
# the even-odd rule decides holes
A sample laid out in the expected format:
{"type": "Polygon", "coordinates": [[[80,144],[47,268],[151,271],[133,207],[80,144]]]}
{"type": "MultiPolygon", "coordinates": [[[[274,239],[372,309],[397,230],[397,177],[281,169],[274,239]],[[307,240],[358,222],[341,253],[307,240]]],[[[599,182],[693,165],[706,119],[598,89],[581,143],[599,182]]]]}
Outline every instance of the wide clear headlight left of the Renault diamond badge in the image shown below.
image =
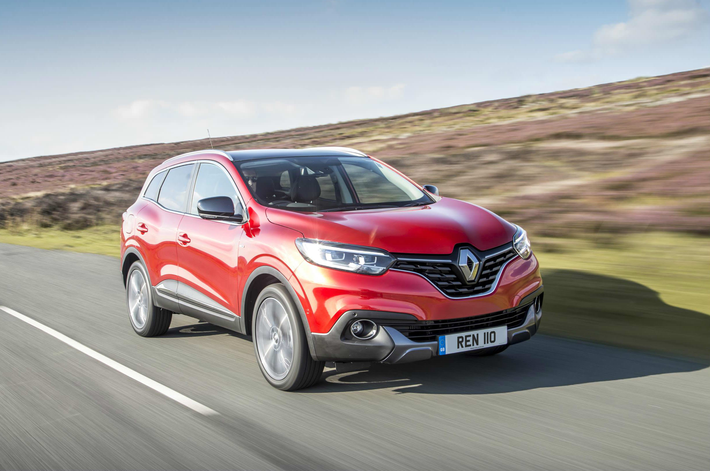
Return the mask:
{"type": "Polygon", "coordinates": [[[296,247],[313,265],[346,272],[382,275],[395,262],[395,257],[384,250],[360,245],[297,238],[296,247]]]}

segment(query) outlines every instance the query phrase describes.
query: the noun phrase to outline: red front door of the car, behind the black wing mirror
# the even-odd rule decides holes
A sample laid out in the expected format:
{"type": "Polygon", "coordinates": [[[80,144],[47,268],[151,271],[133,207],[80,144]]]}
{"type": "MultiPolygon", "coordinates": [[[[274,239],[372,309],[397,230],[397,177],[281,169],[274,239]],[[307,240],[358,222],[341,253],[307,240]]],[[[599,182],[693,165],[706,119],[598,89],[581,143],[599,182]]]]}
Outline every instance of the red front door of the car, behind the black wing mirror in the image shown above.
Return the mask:
{"type": "Polygon", "coordinates": [[[180,309],[187,316],[239,330],[237,263],[243,223],[200,218],[197,201],[229,196],[235,214],[246,219],[246,210],[234,180],[222,165],[199,165],[190,208],[178,227],[180,309]]]}

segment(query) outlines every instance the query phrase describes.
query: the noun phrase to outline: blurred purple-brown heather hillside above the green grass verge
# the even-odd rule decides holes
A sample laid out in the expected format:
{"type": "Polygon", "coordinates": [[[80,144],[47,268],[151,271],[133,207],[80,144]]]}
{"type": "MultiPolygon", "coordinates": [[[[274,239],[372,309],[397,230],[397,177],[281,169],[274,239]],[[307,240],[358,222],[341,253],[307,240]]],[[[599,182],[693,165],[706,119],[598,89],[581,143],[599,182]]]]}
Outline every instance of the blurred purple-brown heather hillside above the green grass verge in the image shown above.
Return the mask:
{"type": "MultiPolygon", "coordinates": [[[[710,233],[710,69],[213,141],[359,148],[535,235],[710,233]]],[[[207,140],[0,163],[0,227],[114,223],[152,167],[202,148],[207,140]]]]}

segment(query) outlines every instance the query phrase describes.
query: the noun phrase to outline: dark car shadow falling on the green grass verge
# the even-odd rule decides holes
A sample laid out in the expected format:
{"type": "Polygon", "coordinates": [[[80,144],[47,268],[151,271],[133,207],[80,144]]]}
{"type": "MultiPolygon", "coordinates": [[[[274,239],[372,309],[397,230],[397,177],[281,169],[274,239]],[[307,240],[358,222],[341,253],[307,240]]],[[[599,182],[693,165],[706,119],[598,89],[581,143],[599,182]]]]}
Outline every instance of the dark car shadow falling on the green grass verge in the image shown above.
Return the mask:
{"type": "MultiPolygon", "coordinates": [[[[542,333],[710,360],[710,316],[622,277],[547,270],[542,333]]],[[[688,292],[693,287],[685,288],[688,292]]]]}

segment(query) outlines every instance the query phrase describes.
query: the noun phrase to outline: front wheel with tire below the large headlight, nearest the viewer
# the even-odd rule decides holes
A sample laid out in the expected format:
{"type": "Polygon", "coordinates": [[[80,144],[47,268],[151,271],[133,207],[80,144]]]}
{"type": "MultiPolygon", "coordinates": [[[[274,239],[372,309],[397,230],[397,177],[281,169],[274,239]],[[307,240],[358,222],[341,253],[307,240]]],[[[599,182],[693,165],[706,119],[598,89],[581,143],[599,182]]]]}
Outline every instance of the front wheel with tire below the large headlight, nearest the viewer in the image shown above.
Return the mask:
{"type": "Polygon", "coordinates": [[[283,284],[268,285],[256,298],[251,331],[256,362],[271,386],[295,391],[320,381],[325,362],[311,357],[301,318],[283,284]]]}

